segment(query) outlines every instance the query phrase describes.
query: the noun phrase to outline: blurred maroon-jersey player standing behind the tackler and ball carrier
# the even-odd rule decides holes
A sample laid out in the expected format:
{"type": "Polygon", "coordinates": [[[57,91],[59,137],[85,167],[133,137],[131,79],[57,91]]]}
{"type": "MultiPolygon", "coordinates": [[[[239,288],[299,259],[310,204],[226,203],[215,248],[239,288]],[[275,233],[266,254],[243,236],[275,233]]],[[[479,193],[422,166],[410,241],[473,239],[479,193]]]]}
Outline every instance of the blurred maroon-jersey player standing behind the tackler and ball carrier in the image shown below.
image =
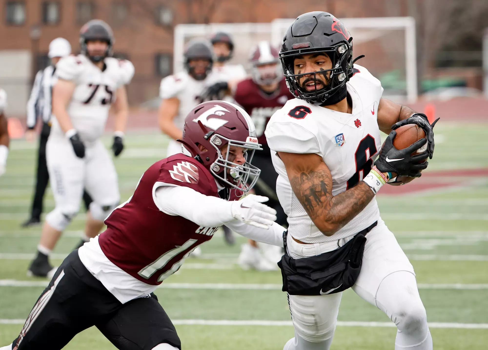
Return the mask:
{"type": "MultiPolygon", "coordinates": [[[[268,41],[260,41],[251,51],[249,58],[251,78],[237,84],[234,98],[251,116],[256,126],[256,136],[262,144],[262,151],[256,151],[253,164],[261,169],[261,175],[254,187],[256,194],[269,198],[268,205],[277,212],[276,222],[287,226],[286,214],[276,195],[278,174],[271,161],[271,151],[266,143],[264,129],[274,112],[283,107],[288,99],[293,98],[286,87],[283,70],[279,64],[278,50],[268,41]]],[[[281,259],[280,247],[249,240],[242,246],[239,265],[244,269],[276,270],[276,263],[281,259]]]]}

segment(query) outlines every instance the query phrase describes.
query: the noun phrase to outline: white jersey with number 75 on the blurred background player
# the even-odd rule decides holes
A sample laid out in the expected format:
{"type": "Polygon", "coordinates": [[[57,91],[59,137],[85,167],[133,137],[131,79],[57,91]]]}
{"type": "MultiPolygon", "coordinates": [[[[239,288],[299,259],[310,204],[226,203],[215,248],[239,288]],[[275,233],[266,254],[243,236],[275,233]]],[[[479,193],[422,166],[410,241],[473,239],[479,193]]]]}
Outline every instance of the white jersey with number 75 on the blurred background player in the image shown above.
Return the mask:
{"type": "MultiPolygon", "coordinates": [[[[117,89],[134,75],[134,66],[128,60],[107,57],[104,62],[101,70],[86,56],[78,55],[61,58],[56,65],[56,76],[76,85],[67,112],[73,128],[88,145],[102,136],[117,89]]],[[[55,116],[52,133],[62,134],[55,116]]]]}

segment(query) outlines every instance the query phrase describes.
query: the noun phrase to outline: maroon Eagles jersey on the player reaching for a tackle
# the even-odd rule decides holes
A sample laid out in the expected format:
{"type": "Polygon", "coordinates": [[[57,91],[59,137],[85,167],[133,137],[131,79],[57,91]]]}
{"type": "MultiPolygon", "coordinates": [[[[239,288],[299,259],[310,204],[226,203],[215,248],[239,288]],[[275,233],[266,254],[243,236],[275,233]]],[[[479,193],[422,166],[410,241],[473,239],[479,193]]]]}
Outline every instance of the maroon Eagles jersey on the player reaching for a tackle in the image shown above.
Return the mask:
{"type": "Polygon", "coordinates": [[[184,258],[218,229],[201,227],[182,216],[160,211],[153,196],[161,182],[219,196],[210,172],[196,159],[180,153],[147,169],[132,197],[105,219],[107,230],[99,237],[105,256],[123,271],[151,285],[160,284],[176,272],[184,258]]]}

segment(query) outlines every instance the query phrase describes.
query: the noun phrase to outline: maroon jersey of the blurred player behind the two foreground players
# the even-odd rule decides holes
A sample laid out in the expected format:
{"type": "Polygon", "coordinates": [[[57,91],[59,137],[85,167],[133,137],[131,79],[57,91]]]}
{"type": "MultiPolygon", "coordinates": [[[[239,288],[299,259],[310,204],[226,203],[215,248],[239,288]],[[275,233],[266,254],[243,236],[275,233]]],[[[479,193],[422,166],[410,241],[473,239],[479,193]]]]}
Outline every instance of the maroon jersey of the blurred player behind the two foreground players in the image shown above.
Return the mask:
{"type": "Polygon", "coordinates": [[[251,116],[256,126],[256,136],[264,149],[267,149],[264,129],[266,129],[269,118],[292,98],[294,97],[286,87],[285,79],[280,81],[280,88],[271,95],[264,93],[251,78],[237,84],[234,99],[251,116]]]}

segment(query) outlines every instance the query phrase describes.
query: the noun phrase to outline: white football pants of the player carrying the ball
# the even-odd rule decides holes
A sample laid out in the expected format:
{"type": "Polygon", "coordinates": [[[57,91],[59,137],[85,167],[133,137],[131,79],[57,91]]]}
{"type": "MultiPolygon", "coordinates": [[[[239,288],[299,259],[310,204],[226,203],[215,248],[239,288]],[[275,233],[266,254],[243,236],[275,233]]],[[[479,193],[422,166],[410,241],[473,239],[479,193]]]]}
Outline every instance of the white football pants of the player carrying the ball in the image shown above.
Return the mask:
{"type": "MultiPolygon", "coordinates": [[[[333,242],[300,244],[287,240],[288,253],[303,258],[330,252],[352,237],[333,242]]],[[[415,273],[395,236],[381,219],[366,234],[361,273],[352,287],[361,298],[384,311],[398,328],[395,350],[432,350],[427,314],[420,300],[415,273]]],[[[337,323],[342,292],[289,295],[295,338],[284,350],[328,350],[337,323]]]]}

